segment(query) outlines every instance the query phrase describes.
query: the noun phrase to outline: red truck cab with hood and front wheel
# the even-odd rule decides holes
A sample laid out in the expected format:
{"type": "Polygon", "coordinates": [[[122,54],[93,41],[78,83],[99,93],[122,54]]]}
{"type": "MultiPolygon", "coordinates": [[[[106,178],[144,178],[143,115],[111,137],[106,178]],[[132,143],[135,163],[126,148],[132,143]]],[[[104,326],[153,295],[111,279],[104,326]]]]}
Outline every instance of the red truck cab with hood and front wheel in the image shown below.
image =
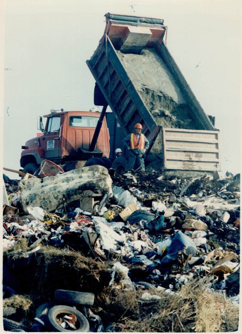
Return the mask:
{"type": "MultiPolygon", "coordinates": [[[[33,173],[44,159],[56,164],[87,160],[90,154],[87,157],[84,152],[89,149],[100,115],[98,112],[87,111],[63,111],[45,115],[47,120],[45,129],[42,129],[43,135],[28,140],[22,146],[20,165],[23,171],[33,173]]],[[[109,157],[106,118],[103,119],[94,151],[99,152],[96,156],[109,157]]]]}

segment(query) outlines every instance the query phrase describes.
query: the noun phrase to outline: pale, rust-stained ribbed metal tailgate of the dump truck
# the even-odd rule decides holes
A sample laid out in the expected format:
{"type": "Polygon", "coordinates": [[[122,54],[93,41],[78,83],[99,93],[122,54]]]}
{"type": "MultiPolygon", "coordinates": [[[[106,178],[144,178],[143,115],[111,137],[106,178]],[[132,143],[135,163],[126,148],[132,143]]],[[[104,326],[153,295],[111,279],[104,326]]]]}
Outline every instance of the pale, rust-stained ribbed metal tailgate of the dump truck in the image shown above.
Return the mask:
{"type": "Polygon", "coordinates": [[[165,169],[220,171],[219,131],[162,129],[165,169]]]}

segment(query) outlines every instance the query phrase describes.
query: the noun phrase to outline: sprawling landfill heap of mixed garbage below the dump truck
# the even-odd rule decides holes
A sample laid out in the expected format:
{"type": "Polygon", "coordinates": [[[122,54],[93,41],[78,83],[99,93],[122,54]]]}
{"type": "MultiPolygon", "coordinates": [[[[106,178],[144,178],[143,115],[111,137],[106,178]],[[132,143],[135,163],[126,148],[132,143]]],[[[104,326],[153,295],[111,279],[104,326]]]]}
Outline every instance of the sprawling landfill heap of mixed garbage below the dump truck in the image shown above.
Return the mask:
{"type": "Polygon", "coordinates": [[[238,329],[239,174],[89,166],[7,192],[5,330],[238,329]]]}

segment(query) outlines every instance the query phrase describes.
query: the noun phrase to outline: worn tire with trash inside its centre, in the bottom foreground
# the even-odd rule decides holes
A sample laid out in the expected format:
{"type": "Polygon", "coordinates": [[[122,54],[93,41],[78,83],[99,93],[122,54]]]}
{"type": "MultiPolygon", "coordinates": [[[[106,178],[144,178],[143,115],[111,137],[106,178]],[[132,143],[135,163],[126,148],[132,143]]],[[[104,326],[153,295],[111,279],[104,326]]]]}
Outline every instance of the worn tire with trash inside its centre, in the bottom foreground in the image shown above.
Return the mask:
{"type": "Polygon", "coordinates": [[[88,332],[90,327],[89,327],[89,322],[87,318],[78,310],[74,309],[73,307],[70,306],[65,306],[65,305],[57,305],[52,307],[47,316],[46,316],[46,329],[51,331],[51,332],[88,332]],[[66,329],[63,328],[58,324],[57,318],[62,318],[64,315],[75,315],[77,318],[77,321],[75,322],[76,329],[66,329]]]}

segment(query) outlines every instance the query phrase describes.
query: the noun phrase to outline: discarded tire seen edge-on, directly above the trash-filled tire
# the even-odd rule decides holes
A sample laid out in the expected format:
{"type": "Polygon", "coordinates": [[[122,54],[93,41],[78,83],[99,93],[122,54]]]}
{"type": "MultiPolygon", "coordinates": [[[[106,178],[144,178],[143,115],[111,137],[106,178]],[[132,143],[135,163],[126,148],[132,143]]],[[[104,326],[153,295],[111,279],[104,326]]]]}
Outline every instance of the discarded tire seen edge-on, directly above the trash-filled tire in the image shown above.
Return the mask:
{"type": "Polygon", "coordinates": [[[70,290],[56,290],[55,300],[68,304],[93,305],[94,294],[90,292],[79,292],[70,290]]]}

